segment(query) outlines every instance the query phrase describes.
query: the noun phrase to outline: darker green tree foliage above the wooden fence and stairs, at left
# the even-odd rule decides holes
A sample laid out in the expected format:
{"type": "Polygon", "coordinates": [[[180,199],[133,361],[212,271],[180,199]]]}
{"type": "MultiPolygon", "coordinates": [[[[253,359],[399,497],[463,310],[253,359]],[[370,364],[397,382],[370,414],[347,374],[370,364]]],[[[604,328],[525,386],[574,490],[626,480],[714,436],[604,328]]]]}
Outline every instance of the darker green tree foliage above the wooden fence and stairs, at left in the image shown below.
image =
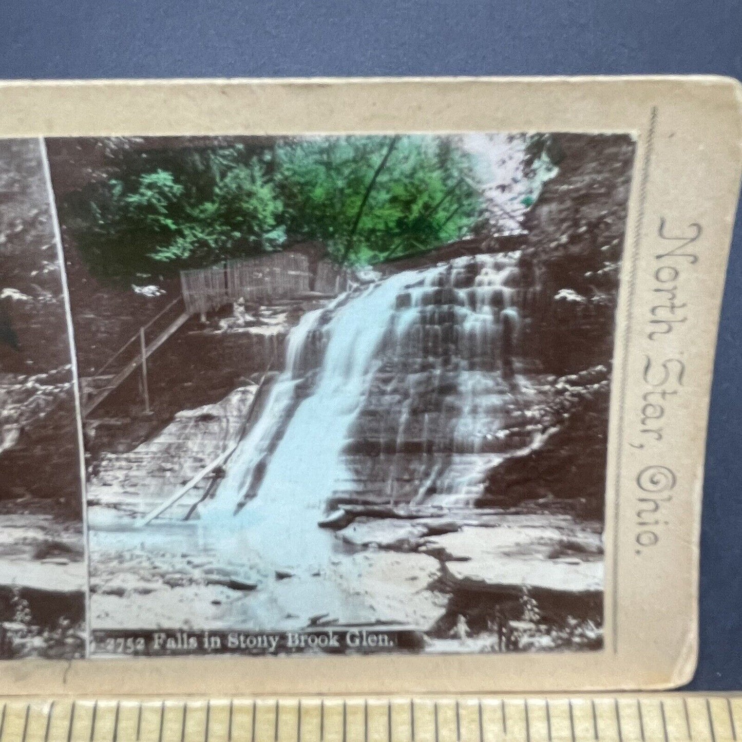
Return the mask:
{"type": "Polygon", "coordinates": [[[121,168],[68,203],[73,236],[97,275],[210,265],[283,242],[282,205],[260,158],[237,146],[173,160],[172,170],[121,168]]]}

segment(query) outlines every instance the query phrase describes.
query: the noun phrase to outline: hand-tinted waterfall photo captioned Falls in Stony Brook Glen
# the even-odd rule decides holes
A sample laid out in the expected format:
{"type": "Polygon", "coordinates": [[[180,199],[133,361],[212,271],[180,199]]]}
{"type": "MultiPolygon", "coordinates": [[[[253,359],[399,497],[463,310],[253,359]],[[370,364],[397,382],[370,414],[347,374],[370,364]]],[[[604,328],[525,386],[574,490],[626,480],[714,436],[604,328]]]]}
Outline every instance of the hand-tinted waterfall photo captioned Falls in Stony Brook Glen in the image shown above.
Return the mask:
{"type": "Polygon", "coordinates": [[[91,654],[602,649],[632,137],[46,146],[91,654]]]}

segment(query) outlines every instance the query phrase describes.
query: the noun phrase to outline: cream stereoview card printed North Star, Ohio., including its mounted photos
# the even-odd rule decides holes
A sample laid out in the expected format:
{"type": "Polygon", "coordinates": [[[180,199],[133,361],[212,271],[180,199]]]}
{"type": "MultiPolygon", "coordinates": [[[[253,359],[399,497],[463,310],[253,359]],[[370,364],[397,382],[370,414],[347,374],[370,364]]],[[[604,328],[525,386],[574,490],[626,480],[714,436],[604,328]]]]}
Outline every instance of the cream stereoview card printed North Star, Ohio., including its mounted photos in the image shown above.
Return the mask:
{"type": "Polygon", "coordinates": [[[741,88],[0,83],[6,691],[692,676],[741,88]]]}

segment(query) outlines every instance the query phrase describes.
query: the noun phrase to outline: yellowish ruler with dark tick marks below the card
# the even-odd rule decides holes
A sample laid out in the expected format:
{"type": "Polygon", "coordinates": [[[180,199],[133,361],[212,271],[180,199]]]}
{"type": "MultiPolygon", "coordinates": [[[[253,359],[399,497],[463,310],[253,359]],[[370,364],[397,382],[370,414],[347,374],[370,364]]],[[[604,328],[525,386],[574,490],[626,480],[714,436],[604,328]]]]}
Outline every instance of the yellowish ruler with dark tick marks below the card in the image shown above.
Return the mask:
{"type": "Polygon", "coordinates": [[[0,742],[736,742],[742,695],[33,699],[0,742]]]}

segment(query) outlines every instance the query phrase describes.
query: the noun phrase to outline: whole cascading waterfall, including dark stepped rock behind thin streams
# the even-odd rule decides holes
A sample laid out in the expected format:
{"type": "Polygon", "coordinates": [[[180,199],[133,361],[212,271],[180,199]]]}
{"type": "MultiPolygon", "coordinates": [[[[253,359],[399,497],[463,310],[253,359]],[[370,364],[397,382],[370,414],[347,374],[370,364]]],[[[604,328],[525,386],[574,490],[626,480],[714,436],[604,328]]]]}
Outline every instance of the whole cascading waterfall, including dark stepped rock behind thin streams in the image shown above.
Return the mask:
{"type": "Polygon", "coordinates": [[[401,272],[304,315],[286,370],[203,522],[232,525],[275,568],[326,559],[333,496],[470,504],[528,385],[513,371],[517,254],[401,272]]]}

